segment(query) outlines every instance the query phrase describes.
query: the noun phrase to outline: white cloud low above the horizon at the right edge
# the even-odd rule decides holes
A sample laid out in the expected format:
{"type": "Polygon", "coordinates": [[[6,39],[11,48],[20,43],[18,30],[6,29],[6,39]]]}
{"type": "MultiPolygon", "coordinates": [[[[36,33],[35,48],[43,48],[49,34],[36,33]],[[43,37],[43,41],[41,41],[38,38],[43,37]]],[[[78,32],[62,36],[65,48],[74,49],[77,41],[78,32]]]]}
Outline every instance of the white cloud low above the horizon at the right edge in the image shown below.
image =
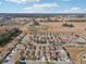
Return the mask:
{"type": "Polygon", "coordinates": [[[85,13],[86,9],[82,9],[82,8],[71,8],[71,9],[66,9],[64,10],[64,13],[85,13]]]}

